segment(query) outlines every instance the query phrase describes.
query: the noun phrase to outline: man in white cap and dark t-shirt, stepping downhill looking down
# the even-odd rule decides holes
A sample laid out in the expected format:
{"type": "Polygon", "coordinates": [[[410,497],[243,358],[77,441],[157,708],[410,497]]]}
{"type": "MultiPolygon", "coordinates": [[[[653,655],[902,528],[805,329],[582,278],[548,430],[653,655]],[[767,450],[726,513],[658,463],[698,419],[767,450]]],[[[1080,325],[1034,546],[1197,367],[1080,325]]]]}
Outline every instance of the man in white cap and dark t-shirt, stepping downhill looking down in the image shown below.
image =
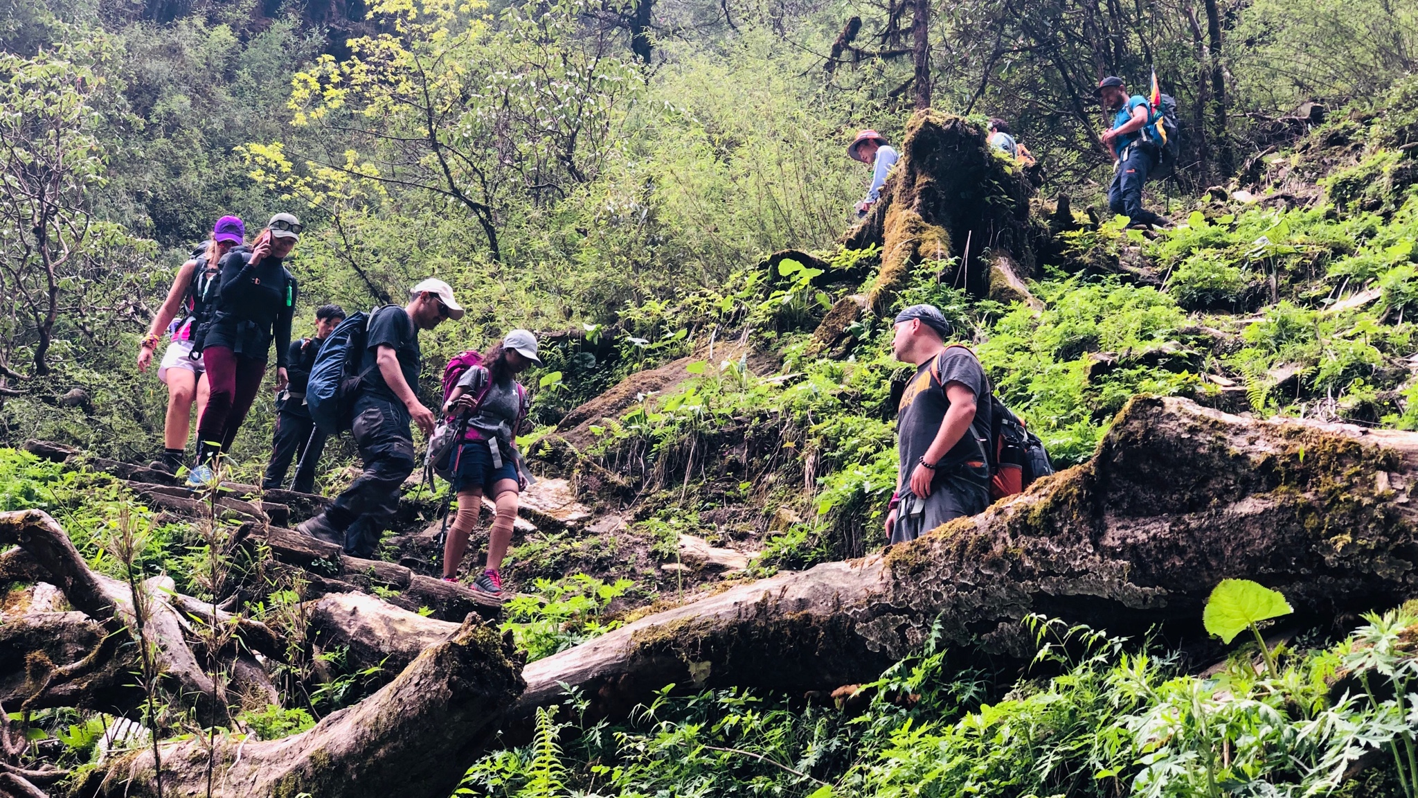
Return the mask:
{"type": "Polygon", "coordinates": [[[359,393],[350,432],[359,446],[364,473],[335,498],[325,513],[296,530],[337,542],[352,557],[370,557],[398,510],[398,486],[414,473],[414,436],[410,422],[424,434],[434,430],[432,412],[418,400],[418,331],[442,319],[462,318],[452,288],[430,277],[410,290],[408,304],[374,311],[360,362],[359,393]]]}

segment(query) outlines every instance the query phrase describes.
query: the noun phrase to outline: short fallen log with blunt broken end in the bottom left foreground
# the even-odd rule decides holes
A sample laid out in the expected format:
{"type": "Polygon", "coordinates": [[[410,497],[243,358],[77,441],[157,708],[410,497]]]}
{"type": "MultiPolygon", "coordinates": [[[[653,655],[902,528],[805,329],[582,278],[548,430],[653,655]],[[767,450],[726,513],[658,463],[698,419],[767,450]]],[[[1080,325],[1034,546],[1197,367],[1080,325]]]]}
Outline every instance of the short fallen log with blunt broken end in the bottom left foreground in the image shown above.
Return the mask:
{"type": "MultiPolygon", "coordinates": [[[[313,728],[272,741],[220,740],[207,789],[204,740],[160,745],[166,795],[445,798],[522,692],[510,635],[468,619],[394,682],[313,728]]],[[[92,798],[157,795],[150,748],[113,757],[74,789],[92,798]]]]}

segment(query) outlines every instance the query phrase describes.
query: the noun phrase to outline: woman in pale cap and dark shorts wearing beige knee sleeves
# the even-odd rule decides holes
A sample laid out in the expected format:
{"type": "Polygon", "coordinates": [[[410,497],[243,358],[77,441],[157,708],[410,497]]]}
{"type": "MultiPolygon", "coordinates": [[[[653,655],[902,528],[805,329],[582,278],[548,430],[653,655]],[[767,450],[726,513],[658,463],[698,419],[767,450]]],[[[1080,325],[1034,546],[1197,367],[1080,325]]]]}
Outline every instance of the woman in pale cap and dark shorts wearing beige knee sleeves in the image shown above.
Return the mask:
{"type": "Polygon", "coordinates": [[[444,542],[444,579],[457,581],[458,565],[468,551],[468,534],[478,523],[482,497],[491,496],[496,507],[488,530],[488,565],[472,581],[474,589],[502,592],[502,558],[512,542],[512,523],[518,517],[518,497],[525,484],[516,436],[527,417],[527,390],[515,376],[537,358],[536,337],[513,329],[484,355],[484,365],[464,372],[448,393],[444,415],[465,416],[468,432],[450,457],[452,490],[458,493],[458,515],[444,542]]]}

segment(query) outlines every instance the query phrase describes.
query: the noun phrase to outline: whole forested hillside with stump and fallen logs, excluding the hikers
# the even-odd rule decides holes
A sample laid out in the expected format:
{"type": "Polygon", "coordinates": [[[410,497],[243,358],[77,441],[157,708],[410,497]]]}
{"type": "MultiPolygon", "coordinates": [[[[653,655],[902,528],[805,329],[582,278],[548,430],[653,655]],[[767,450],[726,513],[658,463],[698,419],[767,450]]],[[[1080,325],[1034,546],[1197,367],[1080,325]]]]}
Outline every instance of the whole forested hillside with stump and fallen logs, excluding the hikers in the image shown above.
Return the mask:
{"type": "Polygon", "coordinates": [[[0,795],[1418,795],[1418,6],[0,0],[0,795]],[[1154,74],[1134,227],[1093,89],[1154,74]],[[360,456],[258,487],[274,364],[220,480],[149,466],[173,275],[279,212],[296,337],[452,287],[430,408],[535,331],[501,596],[491,501],[438,579],[423,469],[373,555],[294,531],[360,456]],[[1059,473],[888,547],[926,302],[1059,473]]]}

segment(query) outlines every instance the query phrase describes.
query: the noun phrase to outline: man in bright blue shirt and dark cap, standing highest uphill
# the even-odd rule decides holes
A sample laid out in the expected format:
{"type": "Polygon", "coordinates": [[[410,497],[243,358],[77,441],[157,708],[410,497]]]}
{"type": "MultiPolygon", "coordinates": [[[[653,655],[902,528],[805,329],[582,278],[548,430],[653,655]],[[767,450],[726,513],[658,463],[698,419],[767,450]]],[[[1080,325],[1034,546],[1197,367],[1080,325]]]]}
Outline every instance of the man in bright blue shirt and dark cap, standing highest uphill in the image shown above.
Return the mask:
{"type": "Polygon", "coordinates": [[[1143,185],[1157,168],[1157,126],[1151,105],[1141,95],[1127,94],[1123,78],[1098,81],[1093,92],[1103,108],[1113,111],[1113,126],[1103,133],[1103,148],[1113,156],[1113,182],[1107,186],[1107,206],[1126,216],[1133,226],[1168,226],[1171,222],[1143,207],[1143,185]],[[1147,133],[1144,136],[1144,133],[1147,133]]]}

